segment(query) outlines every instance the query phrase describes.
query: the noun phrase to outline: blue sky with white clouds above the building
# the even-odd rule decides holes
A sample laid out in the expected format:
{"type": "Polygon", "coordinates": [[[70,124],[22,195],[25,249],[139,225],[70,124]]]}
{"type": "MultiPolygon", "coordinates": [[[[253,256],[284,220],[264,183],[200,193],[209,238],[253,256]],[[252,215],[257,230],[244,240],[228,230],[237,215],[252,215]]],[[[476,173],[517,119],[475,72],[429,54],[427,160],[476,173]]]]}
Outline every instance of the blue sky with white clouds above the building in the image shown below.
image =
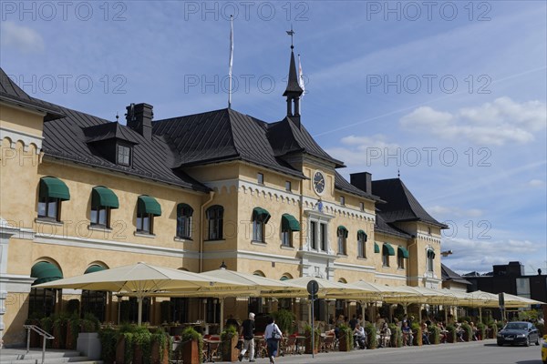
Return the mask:
{"type": "Polygon", "coordinates": [[[294,27],[304,126],[340,172],[401,178],[464,273],[547,271],[543,1],[2,2],[0,64],[26,92],[114,121],[227,104],[284,116],[294,27]]]}

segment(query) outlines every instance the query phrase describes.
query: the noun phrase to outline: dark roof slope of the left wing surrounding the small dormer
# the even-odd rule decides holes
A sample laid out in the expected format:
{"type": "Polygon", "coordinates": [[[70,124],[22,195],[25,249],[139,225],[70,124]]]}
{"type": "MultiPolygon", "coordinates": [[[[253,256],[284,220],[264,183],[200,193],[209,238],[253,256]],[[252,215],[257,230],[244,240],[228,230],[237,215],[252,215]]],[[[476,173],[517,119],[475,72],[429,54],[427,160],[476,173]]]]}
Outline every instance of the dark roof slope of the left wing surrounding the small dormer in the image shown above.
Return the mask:
{"type": "Polygon", "coordinates": [[[58,157],[132,176],[150,178],[155,181],[203,192],[210,190],[185,173],[171,169],[175,158],[163,137],[153,136],[151,140],[147,140],[139,133],[129,129],[128,126],[115,125],[116,123],[109,123],[108,120],[97,116],[90,116],[66,107],[57,107],[65,117],[44,125],[42,148],[46,156],[58,157]],[[107,123],[112,126],[105,126],[107,123]],[[114,129],[117,130],[116,135],[130,138],[135,144],[133,146],[132,166],[124,167],[112,163],[102,157],[91,143],[88,144],[88,137],[90,136],[87,136],[84,131],[93,131],[94,128],[91,126],[95,126],[97,131],[114,129]]]}

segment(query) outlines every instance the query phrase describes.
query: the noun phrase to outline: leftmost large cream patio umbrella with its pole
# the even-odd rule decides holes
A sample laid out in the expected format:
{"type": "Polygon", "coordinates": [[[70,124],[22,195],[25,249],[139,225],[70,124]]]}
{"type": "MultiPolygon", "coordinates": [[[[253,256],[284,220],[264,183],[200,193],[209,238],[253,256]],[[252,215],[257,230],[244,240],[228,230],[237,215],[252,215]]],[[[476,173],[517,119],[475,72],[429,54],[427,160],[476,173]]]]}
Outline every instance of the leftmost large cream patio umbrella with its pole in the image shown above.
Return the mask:
{"type": "Polygon", "coordinates": [[[241,285],[224,278],[201,276],[184,270],[151,266],[139,262],[130,266],[110,268],[82,276],[42,283],[35,288],[73,288],[127,293],[139,300],[139,325],[142,298],[172,289],[200,291],[206,288],[239,288],[241,285]]]}

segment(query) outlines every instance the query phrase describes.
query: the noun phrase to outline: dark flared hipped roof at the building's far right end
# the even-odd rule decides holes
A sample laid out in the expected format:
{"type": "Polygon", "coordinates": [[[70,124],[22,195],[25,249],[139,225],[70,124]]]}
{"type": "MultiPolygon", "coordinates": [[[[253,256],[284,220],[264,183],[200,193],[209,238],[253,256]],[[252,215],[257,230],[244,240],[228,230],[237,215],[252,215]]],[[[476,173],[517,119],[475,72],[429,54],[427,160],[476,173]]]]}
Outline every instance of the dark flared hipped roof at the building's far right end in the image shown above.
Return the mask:
{"type": "Polygon", "coordinates": [[[387,223],[423,221],[441,228],[448,228],[428,214],[400,178],[372,181],[372,193],[387,201],[379,211],[387,223]]]}

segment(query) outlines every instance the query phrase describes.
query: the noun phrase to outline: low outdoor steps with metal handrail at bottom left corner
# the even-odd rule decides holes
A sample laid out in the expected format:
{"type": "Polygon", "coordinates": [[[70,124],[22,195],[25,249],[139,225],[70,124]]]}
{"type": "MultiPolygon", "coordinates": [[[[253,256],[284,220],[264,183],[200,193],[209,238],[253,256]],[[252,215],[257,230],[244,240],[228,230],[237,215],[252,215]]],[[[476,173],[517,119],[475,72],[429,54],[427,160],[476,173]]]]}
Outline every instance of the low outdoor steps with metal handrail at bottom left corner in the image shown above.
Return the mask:
{"type": "MultiPolygon", "coordinates": [[[[42,362],[42,349],[0,349],[0,363],[2,364],[36,364],[42,362]]],[[[55,350],[46,349],[44,363],[80,363],[80,364],[102,364],[101,360],[92,360],[81,355],[76,350],[55,350]]]]}

